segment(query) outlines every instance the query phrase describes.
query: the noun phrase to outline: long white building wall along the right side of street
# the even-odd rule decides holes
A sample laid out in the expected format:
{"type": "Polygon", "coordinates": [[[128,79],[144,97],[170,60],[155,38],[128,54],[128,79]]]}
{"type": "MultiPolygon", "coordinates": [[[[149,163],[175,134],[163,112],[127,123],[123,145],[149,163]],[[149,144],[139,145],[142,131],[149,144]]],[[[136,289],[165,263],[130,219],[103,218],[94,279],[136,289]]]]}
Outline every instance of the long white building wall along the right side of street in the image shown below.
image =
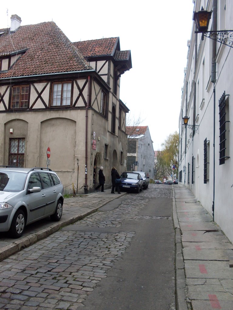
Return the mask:
{"type": "MultiPolygon", "coordinates": [[[[213,1],[196,0],[194,11],[199,11],[203,6],[208,11],[212,10],[213,1]],[[208,5],[208,7],[206,7],[208,5]]],[[[217,29],[233,29],[233,2],[231,0],[218,0],[217,29]],[[224,2],[224,5],[223,5],[224,2]]],[[[211,29],[210,20],[209,30],[211,29]]],[[[180,128],[180,155],[179,178],[182,184],[190,188],[195,197],[212,215],[214,199],[214,221],[221,227],[226,236],[233,242],[233,145],[232,145],[232,98],[233,98],[233,48],[217,43],[216,56],[216,82],[211,82],[212,69],[212,40],[204,38],[201,34],[191,33],[190,51],[187,61],[186,76],[184,80],[183,95],[179,118],[180,128]],[[195,38],[197,59],[195,63],[195,38]],[[196,89],[195,89],[196,84],[196,89]],[[187,86],[187,87],[186,87],[187,86]],[[215,140],[214,140],[214,86],[215,86],[215,140]],[[229,136],[226,140],[226,152],[230,158],[225,164],[219,165],[219,99],[226,93],[229,103],[229,136]],[[196,101],[195,101],[196,95],[196,101]],[[196,110],[194,109],[196,102],[196,110]],[[198,125],[198,132],[192,132],[182,126],[182,117],[187,114],[190,125],[198,125]],[[194,115],[194,118],[193,118],[194,115]],[[204,139],[209,140],[209,180],[204,184],[204,139]],[[215,165],[214,165],[215,144],[215,165]],[[192,184],[192,156],[195,158],[194,183],[192,184]],[[190,173],[188,178],[188,164],[190,173]],[[214,179],[215,169],[215,179],[214,179]],[[215,186],[214,186],[215,181],[215,186]]],[[[226,155],[225,155],[226,156],[226,155]]]]}

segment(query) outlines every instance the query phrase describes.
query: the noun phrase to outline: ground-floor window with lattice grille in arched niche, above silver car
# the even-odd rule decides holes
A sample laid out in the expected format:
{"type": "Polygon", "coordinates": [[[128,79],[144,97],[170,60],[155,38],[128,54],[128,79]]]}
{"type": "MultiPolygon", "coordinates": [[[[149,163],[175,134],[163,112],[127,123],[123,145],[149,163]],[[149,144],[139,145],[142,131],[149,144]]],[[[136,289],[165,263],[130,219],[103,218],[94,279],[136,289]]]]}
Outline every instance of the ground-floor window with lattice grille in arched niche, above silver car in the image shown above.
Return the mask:
{"type": "Polygon", "coordinates": [[[25,138],[12,138],[9,143],[8,165],[24,166],[25,138]]]}

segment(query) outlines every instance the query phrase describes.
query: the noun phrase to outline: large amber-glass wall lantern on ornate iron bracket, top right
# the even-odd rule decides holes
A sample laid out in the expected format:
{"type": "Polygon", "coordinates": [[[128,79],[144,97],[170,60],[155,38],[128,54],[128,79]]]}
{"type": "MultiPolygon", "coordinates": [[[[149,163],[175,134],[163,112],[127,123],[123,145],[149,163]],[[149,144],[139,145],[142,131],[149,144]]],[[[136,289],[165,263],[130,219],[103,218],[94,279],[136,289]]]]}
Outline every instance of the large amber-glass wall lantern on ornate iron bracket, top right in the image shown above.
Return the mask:
{"type": "Polygon", "coordinates": [[[201,8],[201,11],[193,12],[193,20],[195,21],[198,29],[195,33],[202,33],[202,40],[204,37],[207,37],[229,47],[233,47],[233,30],[208,31],[211,14],[212,11],[204,11],[203,7],[201,8]]]}

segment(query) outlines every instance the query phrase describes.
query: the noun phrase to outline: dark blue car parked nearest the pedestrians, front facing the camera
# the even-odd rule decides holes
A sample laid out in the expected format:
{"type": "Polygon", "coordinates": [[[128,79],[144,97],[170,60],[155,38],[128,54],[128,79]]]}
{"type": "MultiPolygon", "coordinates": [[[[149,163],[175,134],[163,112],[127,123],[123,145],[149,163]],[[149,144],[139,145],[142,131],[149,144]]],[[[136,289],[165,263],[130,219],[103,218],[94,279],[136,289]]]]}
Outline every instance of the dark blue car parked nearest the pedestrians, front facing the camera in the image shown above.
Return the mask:
{"type": "Polygon", "coordinates": [[[120,190],[142,191],[143,179],[139,173],[125,171],[121,174],[120,190]]]}

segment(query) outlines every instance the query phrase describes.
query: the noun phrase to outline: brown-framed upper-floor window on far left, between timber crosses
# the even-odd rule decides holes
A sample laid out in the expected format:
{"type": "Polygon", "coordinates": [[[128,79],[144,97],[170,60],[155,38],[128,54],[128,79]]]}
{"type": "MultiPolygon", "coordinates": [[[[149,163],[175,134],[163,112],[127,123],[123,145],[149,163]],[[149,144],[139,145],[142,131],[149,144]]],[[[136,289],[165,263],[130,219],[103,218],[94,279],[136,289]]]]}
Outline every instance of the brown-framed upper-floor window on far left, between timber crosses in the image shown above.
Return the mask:
{"type": "Polygon", "coordinates": [[[12,87],[11,109],[27,108],[28,99],[29,85],[12,87]]]}

